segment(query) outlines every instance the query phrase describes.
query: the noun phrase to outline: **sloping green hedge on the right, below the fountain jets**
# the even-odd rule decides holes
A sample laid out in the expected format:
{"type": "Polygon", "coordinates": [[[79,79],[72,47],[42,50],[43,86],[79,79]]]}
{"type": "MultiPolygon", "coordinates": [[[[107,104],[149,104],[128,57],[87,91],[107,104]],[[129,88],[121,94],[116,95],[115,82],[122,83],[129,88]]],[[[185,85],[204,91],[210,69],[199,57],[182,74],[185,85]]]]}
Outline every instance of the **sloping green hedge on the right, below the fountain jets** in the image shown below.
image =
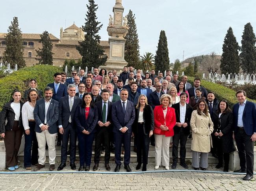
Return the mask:
{"type": "MultiPolygon", "coordinates": [[[[187,77],[187,81],[193,86],[194,84],[194,78],[193,77],[187,77]]],[[[220,84],[215,84],[213,82],[208,82],[205,80],[201,80],[201,85],[207,89],[207,91],[212,91],[215,93],[215,97],[217,100],[227,100],[230,108],[233,108],[234,104],[236,104],[238,101],[236,99],[236,91],[229,89],[227,87],[224,87],[220,84]]],[[[247,98],[247,100],[250,100],[254,103],[256,103],[256,100],[251,100],[247,98]]]]}

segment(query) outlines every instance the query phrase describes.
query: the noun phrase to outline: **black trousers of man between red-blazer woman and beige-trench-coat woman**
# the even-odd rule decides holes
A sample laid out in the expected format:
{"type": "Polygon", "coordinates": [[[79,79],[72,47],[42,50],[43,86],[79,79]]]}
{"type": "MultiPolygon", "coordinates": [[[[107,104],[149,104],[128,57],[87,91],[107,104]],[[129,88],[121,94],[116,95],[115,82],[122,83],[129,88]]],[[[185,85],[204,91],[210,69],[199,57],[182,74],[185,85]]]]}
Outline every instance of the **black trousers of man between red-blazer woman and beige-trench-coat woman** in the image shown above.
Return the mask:
{"type": "Polygon", "coordinates": [[[182,129],[180,129],[180,132],[174,133],[174,136],[173,136],[173,163],[176,163],[176,164],[178,162],[179,142],[180,142],[180,163],[185,163],[187,135],[184,135],[182,129]]]}

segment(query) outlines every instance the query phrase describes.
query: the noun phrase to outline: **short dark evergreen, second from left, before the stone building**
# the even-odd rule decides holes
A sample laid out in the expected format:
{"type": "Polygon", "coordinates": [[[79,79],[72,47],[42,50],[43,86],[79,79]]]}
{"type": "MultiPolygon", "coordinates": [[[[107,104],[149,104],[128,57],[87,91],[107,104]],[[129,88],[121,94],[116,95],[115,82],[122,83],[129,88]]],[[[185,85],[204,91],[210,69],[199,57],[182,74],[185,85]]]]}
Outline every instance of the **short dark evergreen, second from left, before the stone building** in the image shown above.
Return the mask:
{"type": "Polygon", "coordinates": [[[41,40],[39,40],[39,43],[42,43],[42,48],[39,48],[39,50],[35,50],[37,53],[37,57],[35,60],[38,60],[38,64],[48,64],[52,65],[52,42],[49,36],[49,33],[47,31],[44,31],[42,35],[40,35],[41,40]]]}

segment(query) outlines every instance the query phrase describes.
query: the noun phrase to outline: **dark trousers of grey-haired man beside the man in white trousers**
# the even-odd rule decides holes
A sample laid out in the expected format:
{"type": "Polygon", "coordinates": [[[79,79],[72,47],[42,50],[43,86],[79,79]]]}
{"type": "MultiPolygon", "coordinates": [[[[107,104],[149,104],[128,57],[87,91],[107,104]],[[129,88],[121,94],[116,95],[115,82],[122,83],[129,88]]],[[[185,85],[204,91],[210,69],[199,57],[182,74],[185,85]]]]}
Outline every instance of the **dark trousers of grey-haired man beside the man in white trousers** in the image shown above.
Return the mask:
{"type": "Polygon", "coordinates": [[[65,164],[67,161],[67,152],[68,152],[68,144],[70,149],[70,163],[75,163],[76,160],[76,129],[72,127],[69,123],[67,127],[64,129],[64,133],[62,135],[62,145],[61,145],[61,163],[65,164]]]}

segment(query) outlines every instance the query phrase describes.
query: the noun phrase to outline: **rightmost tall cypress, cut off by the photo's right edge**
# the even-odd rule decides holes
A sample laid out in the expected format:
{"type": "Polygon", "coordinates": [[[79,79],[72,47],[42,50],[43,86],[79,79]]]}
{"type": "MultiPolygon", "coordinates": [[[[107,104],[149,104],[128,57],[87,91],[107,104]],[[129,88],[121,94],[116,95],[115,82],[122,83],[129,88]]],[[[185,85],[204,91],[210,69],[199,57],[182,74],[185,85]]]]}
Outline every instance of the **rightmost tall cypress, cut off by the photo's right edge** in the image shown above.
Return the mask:
{"type": "Polygon", "coordinates": [[[241,67],[245,73],[256,72],[256,48],[255,48],[255,34],[252,25],[247,23],[243,31],[241,40],[241,67]]]}

